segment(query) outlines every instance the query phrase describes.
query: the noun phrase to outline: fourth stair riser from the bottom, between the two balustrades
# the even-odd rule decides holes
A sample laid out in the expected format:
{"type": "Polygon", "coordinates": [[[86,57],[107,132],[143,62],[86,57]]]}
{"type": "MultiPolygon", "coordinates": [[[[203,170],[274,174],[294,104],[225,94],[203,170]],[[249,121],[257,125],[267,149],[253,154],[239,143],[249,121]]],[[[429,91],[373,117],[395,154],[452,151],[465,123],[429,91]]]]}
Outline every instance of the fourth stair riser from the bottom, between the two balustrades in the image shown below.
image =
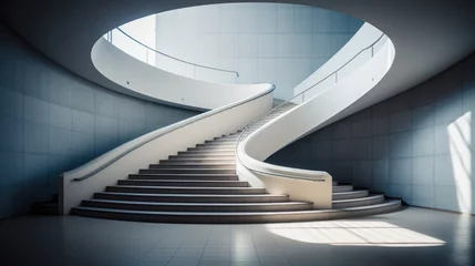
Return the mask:
{"type": "Polygon", "coordinates": [[[120,192],[120,193],[144,193],[144,194],[206,194],[206,195],[249,195],[249,194],[266,194],[265,188],[230,188],[230,190],[187,190],[187,188],[157,188],[157,187],[125,187],[125,186],[107,186],[106,192],[120,192]]]}

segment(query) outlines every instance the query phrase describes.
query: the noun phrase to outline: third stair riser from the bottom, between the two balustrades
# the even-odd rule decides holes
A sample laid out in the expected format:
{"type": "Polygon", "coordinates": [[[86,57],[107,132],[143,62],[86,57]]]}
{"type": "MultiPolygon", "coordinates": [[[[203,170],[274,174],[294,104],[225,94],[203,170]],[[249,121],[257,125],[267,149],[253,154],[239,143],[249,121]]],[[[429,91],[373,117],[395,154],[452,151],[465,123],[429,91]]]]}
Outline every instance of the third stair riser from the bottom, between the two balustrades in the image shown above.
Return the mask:
{"type": "Polygon", "coordinates": [[[219,195],[213,197],[200,197],[199,195],[189,195],[186,197],[177,196],[153,196],[153,195],[107,195],[102,193],[94,194],[97,200],[111,201],[131,201],[131,202],[165,202],[165,203],[279,203],[288,202],[288,196],[237,196],[221,197],[219,195]]]}

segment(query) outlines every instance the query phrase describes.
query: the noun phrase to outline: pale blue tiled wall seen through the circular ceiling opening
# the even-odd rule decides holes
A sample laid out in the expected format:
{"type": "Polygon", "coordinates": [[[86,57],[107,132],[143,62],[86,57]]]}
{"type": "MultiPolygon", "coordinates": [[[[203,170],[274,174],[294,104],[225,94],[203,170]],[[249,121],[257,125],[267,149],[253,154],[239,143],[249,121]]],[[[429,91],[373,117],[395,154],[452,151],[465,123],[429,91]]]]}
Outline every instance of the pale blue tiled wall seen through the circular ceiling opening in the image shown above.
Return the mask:
{"type": "Polygon", "coordinates": [[[289,99],[362,24],[306,6],[215,4],[157,14],[156,45],[190,62],[237,70],[240,83],[273,83],[275,98],[289,99]]]}

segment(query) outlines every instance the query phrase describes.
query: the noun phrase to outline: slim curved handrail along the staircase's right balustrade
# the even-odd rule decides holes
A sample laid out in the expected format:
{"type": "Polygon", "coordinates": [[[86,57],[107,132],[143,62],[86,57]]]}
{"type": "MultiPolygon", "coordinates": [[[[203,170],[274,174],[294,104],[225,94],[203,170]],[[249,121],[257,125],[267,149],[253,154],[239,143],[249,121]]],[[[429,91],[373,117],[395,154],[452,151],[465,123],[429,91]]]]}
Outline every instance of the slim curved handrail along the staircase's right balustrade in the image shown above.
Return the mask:
{"type": "MultiPolygon", "coordinates": [[[[320,81],[313,83],[312,85],[308,86],[306,90],[299,92],[298,94],[293,95],[292,98],[279,103],[277,106],[275,106],[273,109],[271,109],[269,112],[265,113],[264,115],[259,116],[258,119],[254,120],[251,123],[249,123],[248,125],[246,125],[246,127],[241,131],[241,133],[239,134],[239,137],[236,142],[236,146],[235,146],[235,152],[236,152],[236,158],[237,161],[245,166],[248,170],[255,171],[255,172],[259,172],[259,173],[264,173],[264,174],[272,174],[272,175],[279,175],[279,176],[285,176],[285,177],[290,177],[290,178],[296,178],[296,180],[311,180],[309,177],[301,177],[301,176],[295,176],[295,175],[288,175],[288,174],[282,174],[282,173],[271,173],[271,172],[266,172],[265,170],[258,170],[258,168],[249,168],[247,165],[245,165],[241,161],[241,158],[239,157],[239,152],[238,152],[238,147],[239,147],[239,143],[241,142],[242,135],[251,126],[254,125],[256,122],[258,122],[259,120],[262,120],[264,117],[266,117],[267,115],[271,114],[273,111],[278,110],[279,108],[281,108],[285,104],[290,103],[290,101],[295,100],[296,98],[303,95],[303,93],[306,93],[307,91],[313,89],[314,86],[321,84],[323,81],[326,81],[328,78],[332,76],[333,74],[335,74],[338,76],[338,72],[340,70],[342,70],[344,66],[347,66],[350,62],[352,62],[355,58],[358,58],[361,53],[363,53],[364,51],[369,50],[369,49],[373,49],[374,45],[384,37],[385,34],[382,33],[374,42],[372,42],[370,45],[361,49],[358,53],[355,53],[351,59],[349,59],[344,64],[342,64],[340,68],[338,68],[337,70],[332,71],[330,74],[326,75],[323,79],[321,79],[320,81]]],[[[372,51],[374,53],[374,51],[372,51]]],[[[373,55],[373,54],[372,54],[373,55]]],[[[338,82],[338,78],[337,78],[337,82],[338,82]]],[[[326,90],[323,90],[322,92],[320,92],[319,94],[323,93],[324,91],[327,91],[328,88],[326,90]]],[[[279,166],[282,167],[282,166],[279,166]]],[[[288,168],[288,167],[282,167],[283,168],[288,168]]],[[[304,171],[304,170],[300,170],[300,171],[304,171]]],[[[312,171],[312,172],[318,172],[318,171],[312,171]]]]}

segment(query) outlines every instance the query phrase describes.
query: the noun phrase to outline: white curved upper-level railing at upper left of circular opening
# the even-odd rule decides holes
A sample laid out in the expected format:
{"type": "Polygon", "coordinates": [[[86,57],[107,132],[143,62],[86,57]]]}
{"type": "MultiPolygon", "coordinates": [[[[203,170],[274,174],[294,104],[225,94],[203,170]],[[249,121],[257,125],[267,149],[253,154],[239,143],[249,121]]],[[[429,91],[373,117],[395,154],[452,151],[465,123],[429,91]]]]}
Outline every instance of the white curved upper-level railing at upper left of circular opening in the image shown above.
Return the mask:
{"type": "Polygon", "coordinates": [[[238,83],[239,72],[237,71],[208,66],[175,58],[138,41],[121,28],[115,28],[107,32],[104,38],[132,57],[165,71],[197,80],[238,83]],[[121,42],[115,41],[118,38],[121,42]]]}

